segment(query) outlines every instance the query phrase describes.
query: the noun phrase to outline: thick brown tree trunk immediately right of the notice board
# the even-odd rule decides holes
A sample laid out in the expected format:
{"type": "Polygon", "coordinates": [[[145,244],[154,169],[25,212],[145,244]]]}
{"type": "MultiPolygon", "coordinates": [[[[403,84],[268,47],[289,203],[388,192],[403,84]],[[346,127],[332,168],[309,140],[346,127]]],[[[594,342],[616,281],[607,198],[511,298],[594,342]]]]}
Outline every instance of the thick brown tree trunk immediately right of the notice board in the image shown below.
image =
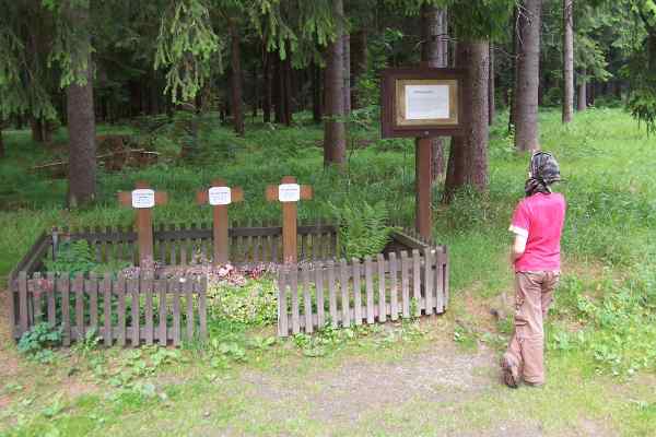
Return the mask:
{"type": "Polygon", "coordinates": [[[462,86],[467,132],[452,140],[449,168],[445,184],[444,201],[448,203],[456,190],[470,185],[479,191],[488,189],[489,165],[489,69],[488,42],[459,42],[456,49],[457,66],[468,66],[462,86]]]}

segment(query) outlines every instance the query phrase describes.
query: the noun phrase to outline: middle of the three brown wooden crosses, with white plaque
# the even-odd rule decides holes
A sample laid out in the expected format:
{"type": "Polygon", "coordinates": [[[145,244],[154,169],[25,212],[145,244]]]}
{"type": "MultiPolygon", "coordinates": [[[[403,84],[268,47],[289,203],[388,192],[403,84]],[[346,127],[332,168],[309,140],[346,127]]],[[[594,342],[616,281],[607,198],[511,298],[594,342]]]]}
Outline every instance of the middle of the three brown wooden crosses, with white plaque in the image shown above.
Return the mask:
{"type": "Polygon", "coordinates": [[[227,263],[227,205],[244,200],[239,187],[229,187],[225,180],[216,178],[212,186],[196,194],[198,204],[211,204],[213,210],[212,235],[214,237],[214,265],[227,263]]]}

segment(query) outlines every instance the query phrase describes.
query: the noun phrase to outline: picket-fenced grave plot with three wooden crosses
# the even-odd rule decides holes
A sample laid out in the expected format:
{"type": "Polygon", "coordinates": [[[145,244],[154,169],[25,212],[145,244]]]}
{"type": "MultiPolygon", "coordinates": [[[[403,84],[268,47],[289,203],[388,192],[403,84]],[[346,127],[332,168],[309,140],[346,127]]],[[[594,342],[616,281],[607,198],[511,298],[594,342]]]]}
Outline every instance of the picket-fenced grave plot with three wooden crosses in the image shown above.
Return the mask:
{"type": "Polygon", "coordinates": [[[138,184],[119,193],[137,211],[134,228],[54,228],[37,239],[10,273],[13,335],[47,322],[65,345],[91,334],[121,346],[203,341],[208,282],[229,274],[226,264],[277,272],[281,336],[444,312],[445,247],[397,231],[382,253],[340,260],[338,226],[297,223],[295,202],[311,197],[286,177],[267,190],[282,203],[281,225],[229,223],[227,205],[243,192],[216,179],[197,194],[212,204],[212,224],[153,227],[166,193],[138,184]]]}

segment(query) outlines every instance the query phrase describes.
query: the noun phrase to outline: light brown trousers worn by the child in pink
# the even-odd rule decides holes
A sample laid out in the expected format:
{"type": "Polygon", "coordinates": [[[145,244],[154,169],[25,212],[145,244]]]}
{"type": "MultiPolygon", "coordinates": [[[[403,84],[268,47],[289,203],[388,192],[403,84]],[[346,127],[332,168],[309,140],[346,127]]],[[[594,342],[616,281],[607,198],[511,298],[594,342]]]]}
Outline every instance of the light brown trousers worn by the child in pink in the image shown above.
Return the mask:
{"type": "Polygon", "coordinates": [[[559,272],[515,273],[515,332],[508,354],[529,383],[544,383],[544,327],[559,272]]]}

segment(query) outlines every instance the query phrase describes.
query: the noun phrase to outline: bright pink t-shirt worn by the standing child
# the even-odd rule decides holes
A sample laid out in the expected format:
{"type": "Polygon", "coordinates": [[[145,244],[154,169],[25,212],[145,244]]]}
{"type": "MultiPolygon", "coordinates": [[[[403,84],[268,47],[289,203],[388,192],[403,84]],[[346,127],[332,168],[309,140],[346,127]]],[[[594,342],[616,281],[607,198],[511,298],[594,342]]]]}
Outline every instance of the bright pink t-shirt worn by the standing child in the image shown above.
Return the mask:
{"type": "Polygon", "coordinates": [[[527,237],[527,240],[524,255],[515,261],[515,271],[560,270],[560,239],[565,209],[565,198],[559,192],[538,192],[519,202],[513,213],[509,231],[527,237]]]}

